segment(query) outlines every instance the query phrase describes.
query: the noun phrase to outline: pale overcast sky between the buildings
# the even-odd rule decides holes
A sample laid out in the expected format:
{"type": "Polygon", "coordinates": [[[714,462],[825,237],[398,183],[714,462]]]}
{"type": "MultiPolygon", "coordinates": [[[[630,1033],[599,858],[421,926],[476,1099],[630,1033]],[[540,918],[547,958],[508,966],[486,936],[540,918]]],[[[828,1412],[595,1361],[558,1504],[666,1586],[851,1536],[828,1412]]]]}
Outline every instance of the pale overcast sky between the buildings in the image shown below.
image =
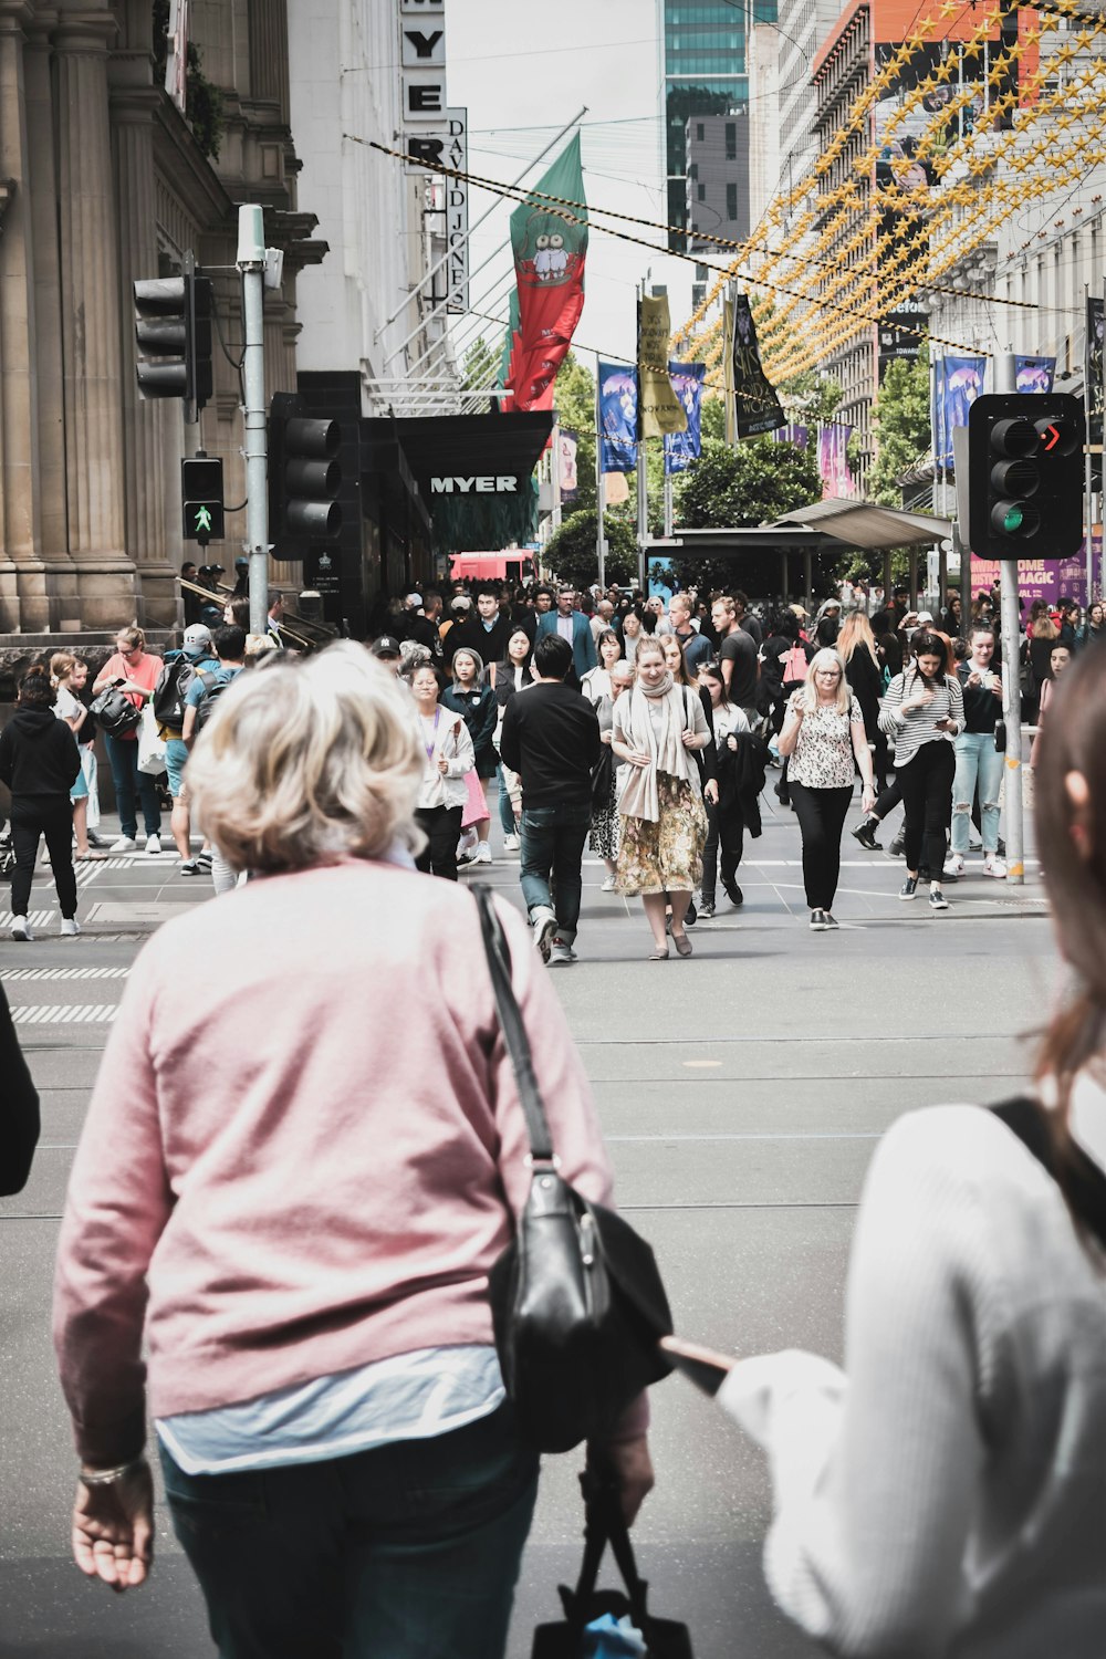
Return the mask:
{"type": "MultiPolygon", "coordinates": [[[[665,219],[660,148],[660,53],[655,0],[448,0],[446,85],[451,105],[468,106],[469,171],[504,184],[519,176],[554,134],[587,105],[580,121],[584,192],[643,219],[665,219]]],[[[531,169],[536,184],[567,138],[531,169]]],[[[473,189],[469,224],[492,202],[473,189]]],[[[506,319],[511,202],[469,244],[469,307],[506,319]]],[[[662,231],[627,226],[663,247],[662,231]]],[[[673,328],[691,309],[693,267],[590,231],[584,315],[574,350],[594,368],[594,352],[632,358],[635,289],[642,279],[668,284],[673,328]]],[[[486,332],[499,348],[502,327],[458,320],[458,352],[486,332]]]]}

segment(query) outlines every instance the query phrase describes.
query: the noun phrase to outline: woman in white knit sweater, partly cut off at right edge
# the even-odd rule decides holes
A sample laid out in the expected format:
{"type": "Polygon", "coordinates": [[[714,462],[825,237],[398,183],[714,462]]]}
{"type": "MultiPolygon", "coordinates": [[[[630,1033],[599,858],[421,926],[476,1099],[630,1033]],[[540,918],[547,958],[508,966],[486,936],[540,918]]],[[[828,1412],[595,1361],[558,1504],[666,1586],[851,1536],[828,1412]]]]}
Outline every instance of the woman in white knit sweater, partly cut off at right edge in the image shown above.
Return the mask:
{"type": "Polygon", "coordinates": [[[1040,1093],[1016,1128],[902,1117],[864,1188],[844,1372],[763,1355],[718,1395],[769,1457],[773,1594],[836,1654],[1106,1652],[1106,655],[1056,715],[1038,843],[1081,989],[1040,1093]]]}

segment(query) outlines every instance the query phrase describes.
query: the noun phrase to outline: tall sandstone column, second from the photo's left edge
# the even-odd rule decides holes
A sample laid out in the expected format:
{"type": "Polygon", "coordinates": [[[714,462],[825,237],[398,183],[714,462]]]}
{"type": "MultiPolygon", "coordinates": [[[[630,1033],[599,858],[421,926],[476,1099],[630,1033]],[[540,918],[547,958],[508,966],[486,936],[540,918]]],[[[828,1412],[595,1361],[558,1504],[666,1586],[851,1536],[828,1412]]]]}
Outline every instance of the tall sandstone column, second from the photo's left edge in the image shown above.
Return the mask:
{"type": "Polygon", "coordinates": [[[108,126],[111,12],[58,12],[58,226],[70,551],[86,627],[134,612],[124,556],[123,355],[119,260],[108,126]]]}

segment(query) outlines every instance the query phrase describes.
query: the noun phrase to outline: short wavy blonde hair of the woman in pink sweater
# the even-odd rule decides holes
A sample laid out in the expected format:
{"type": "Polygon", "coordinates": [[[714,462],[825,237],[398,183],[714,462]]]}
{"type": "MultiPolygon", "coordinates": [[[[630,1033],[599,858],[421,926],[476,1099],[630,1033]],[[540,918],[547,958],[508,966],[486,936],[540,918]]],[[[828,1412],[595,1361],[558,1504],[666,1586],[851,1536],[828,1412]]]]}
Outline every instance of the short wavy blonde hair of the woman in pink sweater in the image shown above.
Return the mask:
{"type": "Polygon", "coordinates": [[[189,801],[234,869],[277,874],[421,844],[410,692],[360,645],[245,669],[187,763],[189,801]]]}

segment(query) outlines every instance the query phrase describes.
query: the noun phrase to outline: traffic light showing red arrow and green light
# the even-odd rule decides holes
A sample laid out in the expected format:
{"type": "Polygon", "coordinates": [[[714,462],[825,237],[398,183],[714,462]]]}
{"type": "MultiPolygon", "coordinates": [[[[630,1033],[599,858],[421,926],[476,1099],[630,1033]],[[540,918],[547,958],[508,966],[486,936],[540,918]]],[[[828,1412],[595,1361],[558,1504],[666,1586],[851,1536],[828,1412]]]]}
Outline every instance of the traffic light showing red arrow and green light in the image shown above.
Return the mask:
{"type": "Polygon", "coordinates": [[[968,542],[982,559],[1058,559],[1083,542],[1083,400],[1010,392],[968,411],[968,542]]]}

